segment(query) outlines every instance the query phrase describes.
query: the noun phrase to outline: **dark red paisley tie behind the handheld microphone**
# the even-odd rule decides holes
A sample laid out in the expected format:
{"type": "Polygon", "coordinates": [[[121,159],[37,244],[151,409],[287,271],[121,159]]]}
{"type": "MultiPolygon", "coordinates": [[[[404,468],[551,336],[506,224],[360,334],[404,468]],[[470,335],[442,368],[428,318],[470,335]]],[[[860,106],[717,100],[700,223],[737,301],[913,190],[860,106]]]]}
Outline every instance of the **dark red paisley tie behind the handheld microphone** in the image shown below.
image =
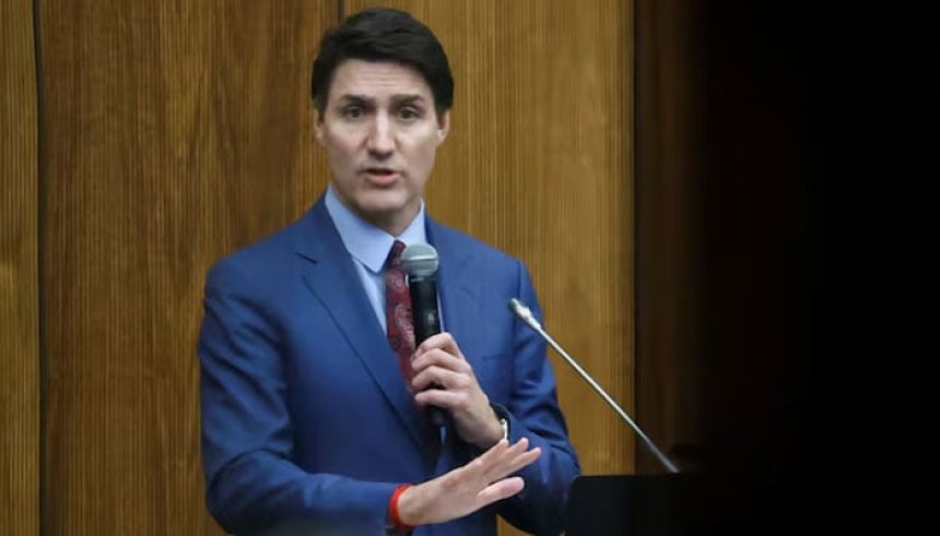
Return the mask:
{"type": "Polygon", "coordinates": [[[414,325],[411,323],[411,295],[404,282],[401,252],[404,242],[396,240],[385,269],[385,320],[388,344],[398,355],[398,366],[407,384],[411,384],[411,355],[414,354],[414,325]]]}

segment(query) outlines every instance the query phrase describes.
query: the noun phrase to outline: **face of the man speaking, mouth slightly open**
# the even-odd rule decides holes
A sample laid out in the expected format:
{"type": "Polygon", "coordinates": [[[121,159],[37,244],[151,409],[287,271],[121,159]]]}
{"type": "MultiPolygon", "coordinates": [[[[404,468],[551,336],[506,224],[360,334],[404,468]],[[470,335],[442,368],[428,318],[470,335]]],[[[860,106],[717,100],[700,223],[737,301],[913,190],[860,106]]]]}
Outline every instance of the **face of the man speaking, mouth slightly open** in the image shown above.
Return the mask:
{"type": "Polygon", "coordinates": [[[437,117],[431,87],[411,68],[340,63],[316,129],[343,204],[393,236],[403,231],[421,206],[449,117],[437,117]]]}

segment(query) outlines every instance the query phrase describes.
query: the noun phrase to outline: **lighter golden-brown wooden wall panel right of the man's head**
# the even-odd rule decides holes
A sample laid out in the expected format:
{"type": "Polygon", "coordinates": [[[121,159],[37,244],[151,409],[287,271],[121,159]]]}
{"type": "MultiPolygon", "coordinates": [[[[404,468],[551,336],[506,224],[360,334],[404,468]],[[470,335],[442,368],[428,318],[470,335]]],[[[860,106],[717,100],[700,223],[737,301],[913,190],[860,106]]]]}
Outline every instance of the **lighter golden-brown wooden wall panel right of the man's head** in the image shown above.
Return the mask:
{"type": "MultiPolygon", "coordinates": [[[[632,409],[631,2],[346,1],[345,11],[374,4],[427,23],[455,73],[428,210],[525,260],[549,330],[632,409]]],[[[551,359],[585,473],[632,472],[626,426],[551,359]]]]}

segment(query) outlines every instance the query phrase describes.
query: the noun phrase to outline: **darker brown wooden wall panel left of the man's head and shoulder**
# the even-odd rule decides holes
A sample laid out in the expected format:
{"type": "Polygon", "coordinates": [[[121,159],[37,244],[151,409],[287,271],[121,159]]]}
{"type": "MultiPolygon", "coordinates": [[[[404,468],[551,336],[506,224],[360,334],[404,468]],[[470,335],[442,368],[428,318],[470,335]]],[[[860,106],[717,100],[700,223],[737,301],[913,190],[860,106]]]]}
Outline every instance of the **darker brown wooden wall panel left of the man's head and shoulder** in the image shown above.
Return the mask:
{"type": "Polygon", "coordinates": [[[336,10],[42,2],[46,534],[220,532],[199,457],[202,285],[326,184],[308,69],[336,10]]]}

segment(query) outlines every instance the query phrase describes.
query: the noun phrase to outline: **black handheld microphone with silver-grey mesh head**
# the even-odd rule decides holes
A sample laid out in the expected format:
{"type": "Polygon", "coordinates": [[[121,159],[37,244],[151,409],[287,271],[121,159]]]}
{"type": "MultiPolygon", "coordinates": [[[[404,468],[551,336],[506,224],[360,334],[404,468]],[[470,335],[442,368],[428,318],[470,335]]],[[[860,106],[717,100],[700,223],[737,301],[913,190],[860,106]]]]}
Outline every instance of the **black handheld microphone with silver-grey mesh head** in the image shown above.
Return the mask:
{"type": "MultiPolygon", "coordinates": [[[[440,313],[437,310],[437,250],[427,243],[412,243],[401,253],[401,263],[408,272],[408,289],[411,295],[411,319],[414,324],[414,344],[423,343],[440,333],[440,313]]],[[[432,385],[431,389],[443,389],[432,385]]],[[[428,406],[431,422],[446,424],[443,409],[428,406]]]]}

